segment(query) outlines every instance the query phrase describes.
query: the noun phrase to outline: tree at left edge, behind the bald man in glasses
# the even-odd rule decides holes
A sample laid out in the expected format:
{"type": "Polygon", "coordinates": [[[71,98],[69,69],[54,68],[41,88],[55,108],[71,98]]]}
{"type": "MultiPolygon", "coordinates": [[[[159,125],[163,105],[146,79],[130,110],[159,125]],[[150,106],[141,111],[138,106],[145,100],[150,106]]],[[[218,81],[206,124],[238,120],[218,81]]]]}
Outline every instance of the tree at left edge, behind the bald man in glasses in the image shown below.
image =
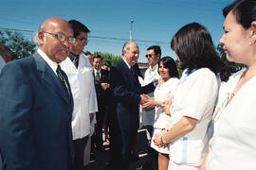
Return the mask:
{"type": "Polygon", "coordinates": [[[9,46],[12,59],[26,58],[34,53],[36,44],[28,41],[21,32],[0,30],[0,43],[9,46]]]}

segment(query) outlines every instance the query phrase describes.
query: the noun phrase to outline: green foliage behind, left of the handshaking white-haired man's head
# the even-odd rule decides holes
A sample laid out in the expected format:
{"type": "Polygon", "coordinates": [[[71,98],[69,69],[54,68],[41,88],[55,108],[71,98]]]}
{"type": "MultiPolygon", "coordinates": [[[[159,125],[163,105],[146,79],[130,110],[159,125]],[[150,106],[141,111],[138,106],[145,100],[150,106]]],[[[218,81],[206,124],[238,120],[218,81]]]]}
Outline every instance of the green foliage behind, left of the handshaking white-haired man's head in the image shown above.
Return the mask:
{"type": "Polygon", "coordinates": [[[102,64],[106,65],[108,67],[111,67],[113,64],[118,62],[119,59],[121,59],[121,56],[116,56],[116,55],[111,54],[111,53],[102,53],[100,51],[94,52],[93,56],[94,55],[101,55],[101,57],[103,59],[102,64]]]}

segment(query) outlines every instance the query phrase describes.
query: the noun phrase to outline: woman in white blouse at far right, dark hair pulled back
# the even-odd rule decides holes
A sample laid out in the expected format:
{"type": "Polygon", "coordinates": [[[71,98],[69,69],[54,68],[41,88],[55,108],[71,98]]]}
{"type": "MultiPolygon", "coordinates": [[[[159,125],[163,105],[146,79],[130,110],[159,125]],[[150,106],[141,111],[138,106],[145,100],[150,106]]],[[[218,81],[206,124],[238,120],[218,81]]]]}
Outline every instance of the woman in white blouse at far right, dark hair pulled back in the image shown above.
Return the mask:
{"type": "Polygon", "coordinates": [[[213,114],[207,170],[256,169],[255,8],[255,0],[237,0],[223,9],[225,33],[220,42],[229,61],[244,63],[247,68],[229,77],[226,97],[213,114]]]}

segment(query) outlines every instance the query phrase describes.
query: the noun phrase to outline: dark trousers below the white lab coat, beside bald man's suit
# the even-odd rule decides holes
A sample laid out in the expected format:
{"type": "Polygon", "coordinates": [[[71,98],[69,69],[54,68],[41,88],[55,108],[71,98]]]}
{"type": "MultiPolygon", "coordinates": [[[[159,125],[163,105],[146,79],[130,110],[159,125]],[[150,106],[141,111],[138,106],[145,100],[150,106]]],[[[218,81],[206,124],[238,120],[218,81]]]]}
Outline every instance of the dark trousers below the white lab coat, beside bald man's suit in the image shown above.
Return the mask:
{"type": "Polygon", "coordinates": [[[85,145],[87,144],[89,139],[89,135],[85,136],[82,139],[74,140],[74,150],[75,150],[75,158],[74,158],[74,170],[84,170],[83,166],[83,152],[85,145]]]}

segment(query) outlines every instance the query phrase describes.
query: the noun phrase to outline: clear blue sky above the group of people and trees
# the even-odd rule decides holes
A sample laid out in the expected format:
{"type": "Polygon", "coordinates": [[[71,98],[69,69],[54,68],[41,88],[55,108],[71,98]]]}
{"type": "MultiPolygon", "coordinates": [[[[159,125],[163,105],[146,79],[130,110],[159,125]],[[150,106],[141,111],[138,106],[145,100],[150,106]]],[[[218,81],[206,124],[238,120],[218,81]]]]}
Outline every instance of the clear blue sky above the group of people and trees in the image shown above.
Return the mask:
{"type": "MultiPolygon", "coordinates": [[[[175,32],[197,22],[208,28],[215,45],[222,36],[222,8],[233,0],[3,0],[0,28],[36,31],[47,18],[76,19],[91,33],[85,50],[121,55],[129,40],[131,19],[133,40],[140,50],[138,61],[146,62],[147,47],[158,44],[162,56],[175,58],[170,42],[175,32]],[[116,40],[118,39],[118,40],[116,40]]],[[[32,33],[23,32],[28,39],[32,33]]]]}

